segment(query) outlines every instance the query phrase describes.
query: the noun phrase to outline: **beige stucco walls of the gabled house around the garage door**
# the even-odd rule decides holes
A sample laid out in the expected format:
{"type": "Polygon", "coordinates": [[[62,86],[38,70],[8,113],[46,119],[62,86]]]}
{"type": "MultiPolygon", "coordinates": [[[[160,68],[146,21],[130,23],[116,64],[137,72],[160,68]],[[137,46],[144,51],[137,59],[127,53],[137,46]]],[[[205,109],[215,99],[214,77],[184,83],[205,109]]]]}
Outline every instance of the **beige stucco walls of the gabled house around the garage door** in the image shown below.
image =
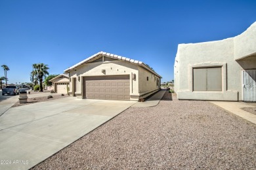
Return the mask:
{"type": "MultiPolygon", "coordinates": [[[[148,70],[140,67],[136,64],[131,64],[129,62],[123,62],[120,60],[106,61],[106,62],[92,62],[88,64],[83,64],[75,70],[70,71],[70,78],[80,76],[80,81],[76,79],[76,92],[77,95],[82,95],[82,77],[84,76],[97,76],[97,75],[130,75],[130,95],[131,100],[139,100],[139,96],[144,95],[144,93],[156,91],[160,89],[160,77],[159,85],[156,85],[154,81],[154,74],[148,70]],[[105,74],[101,70],[106,70],[105,74]],[[133,80],[132,74],[136,75],[136,79],[133,80]],[[146,76],[149,77],[149,81],[146,81],[146,76]]],[[[70,82],[70,93],[72,93],[72,83],[70,82]]],[[[143,96],[145,97],[145,95],[143,96]]]]}

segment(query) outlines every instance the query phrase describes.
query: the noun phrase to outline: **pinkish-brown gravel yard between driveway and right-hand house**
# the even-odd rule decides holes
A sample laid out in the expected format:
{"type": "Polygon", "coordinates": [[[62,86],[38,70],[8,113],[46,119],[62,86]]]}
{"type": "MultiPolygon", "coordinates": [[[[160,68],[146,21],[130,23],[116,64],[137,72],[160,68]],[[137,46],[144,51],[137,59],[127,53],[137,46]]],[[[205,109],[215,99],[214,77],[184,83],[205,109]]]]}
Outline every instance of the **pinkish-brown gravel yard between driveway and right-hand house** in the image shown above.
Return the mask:
{"type": "Polygon", "coordinates": [[[256,126],[165,93],[129,108],[34,169],[256,169],[256,126]]]}

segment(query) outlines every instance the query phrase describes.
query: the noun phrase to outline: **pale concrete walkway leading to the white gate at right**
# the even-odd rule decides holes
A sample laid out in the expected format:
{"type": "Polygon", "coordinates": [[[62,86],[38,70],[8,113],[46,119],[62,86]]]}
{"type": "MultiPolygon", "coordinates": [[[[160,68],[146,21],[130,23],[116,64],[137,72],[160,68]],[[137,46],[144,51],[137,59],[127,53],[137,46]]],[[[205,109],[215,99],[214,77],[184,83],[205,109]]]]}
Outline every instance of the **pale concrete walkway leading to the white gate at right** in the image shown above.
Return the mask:
{"type": "Polygon", "coordinates": [[[228,112],[232,112],[236,116],[240,116],[251,123],[256,124],[256,115],[251,114],[242,110],[242,108],[256,108],[255,103],[245,103],[245,102],[224,102],[224,101],[211,101],[211,103],[227,110],[228,112]]]}

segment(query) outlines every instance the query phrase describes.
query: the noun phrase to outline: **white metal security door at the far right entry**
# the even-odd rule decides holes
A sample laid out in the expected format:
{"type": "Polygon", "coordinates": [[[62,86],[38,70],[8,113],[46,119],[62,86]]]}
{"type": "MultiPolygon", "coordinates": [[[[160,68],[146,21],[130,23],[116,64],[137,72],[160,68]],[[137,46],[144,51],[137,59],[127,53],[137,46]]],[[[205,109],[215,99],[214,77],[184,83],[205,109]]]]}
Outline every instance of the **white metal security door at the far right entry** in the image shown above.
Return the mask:
{"type": "Polygon", "coordinates": [[[243,100],[256,102],[256,70],[243,71],[243,100]]]}

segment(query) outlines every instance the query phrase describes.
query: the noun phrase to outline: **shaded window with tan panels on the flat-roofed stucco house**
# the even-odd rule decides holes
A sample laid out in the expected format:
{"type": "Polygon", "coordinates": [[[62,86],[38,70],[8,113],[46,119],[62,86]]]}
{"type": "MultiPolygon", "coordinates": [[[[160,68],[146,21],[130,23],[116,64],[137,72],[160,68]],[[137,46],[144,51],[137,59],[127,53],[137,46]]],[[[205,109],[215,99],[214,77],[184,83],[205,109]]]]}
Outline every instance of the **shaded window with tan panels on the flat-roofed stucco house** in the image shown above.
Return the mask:
{"type": "Polygon", "coordinates": [[[221,67],[194,68],[193,91],[222,91],[221,67]]]}

